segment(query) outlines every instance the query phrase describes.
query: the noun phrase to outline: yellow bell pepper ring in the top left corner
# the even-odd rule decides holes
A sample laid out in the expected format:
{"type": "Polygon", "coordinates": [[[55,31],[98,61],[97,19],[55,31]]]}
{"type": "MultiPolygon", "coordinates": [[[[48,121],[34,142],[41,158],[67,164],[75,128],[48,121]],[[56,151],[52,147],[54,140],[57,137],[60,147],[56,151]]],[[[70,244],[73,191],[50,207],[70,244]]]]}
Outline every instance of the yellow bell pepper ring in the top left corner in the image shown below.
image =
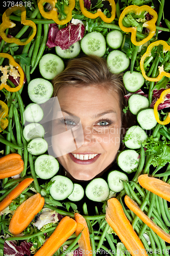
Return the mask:
{"type": "Polygon", "coordinates": [[[37,27],[36,27],[35,23],[32,22],[32,20],[28,20],[28,19],[26,20],[26,8],[24,6],[13,6],[13,7],[8,8],[4,12],[3,22],[0,25],[0,34],[1,34],[2,38],[4,39],[4,41],[10,42],[10,43],[14,42],[15,44],[17,44],[19,46],[27,45],[34,38],[36,31],[37,31],[37,27]],[[8,38],[5,33],[5,30],[7,28],[13,28],[16,26],[15,23],[11,22],[9,17],[12,12],[15,12],[17,10],[21,10],[21,24],[27,25],[27,26],[30,26],[33,28],[32,35],[25,42],[22,42],[21,40],[19,40],[18,38],[15,38],[15,37],[8,38]]]}

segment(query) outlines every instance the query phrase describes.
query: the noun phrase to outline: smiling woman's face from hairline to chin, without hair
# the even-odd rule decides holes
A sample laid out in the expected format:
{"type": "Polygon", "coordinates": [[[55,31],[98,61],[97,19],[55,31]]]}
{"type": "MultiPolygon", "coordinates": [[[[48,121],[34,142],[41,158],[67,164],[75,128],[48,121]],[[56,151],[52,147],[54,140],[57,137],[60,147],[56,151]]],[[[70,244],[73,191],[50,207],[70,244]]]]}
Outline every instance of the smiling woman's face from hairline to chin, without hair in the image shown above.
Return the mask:
{"type": "MultiPolygon", "coordinates": [[[[91,180],[116,158],[121,130],[119,96],[94,86],[65,87],[57,96],[66,127],[76,126],[76,118],[72,117],[76,116],[81,120],[84,133],[84,143],[57,160],[74,179],[91,180]]],[[[55,137],[52,137],[52,146],[55,153],[55,137]]]]}

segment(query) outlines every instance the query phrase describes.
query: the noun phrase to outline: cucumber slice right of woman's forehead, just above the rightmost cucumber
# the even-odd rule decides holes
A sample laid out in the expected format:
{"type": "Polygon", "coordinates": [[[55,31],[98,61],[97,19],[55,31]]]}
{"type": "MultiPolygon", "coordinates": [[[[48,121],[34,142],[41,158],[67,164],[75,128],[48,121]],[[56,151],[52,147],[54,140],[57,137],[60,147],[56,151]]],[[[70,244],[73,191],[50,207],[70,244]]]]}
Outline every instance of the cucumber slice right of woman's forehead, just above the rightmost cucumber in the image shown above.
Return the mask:
{"type": "Polygon", "coordinates": [[[133,94],[130,96],[128,104],[130,112],[136,115],[139,110],[148,108],[150,103],[146,97],[140,94],[133,94]]]}

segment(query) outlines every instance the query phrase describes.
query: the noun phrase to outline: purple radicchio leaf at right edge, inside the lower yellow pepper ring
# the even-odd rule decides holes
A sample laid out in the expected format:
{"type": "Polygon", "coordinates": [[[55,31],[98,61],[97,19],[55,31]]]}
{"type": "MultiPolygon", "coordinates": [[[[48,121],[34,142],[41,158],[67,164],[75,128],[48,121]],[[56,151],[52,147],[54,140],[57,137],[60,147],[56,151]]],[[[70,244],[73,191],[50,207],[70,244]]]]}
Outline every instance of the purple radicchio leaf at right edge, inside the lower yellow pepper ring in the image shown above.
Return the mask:
{"type": "MultiPolygon", "coordinates": [[[[168,88],[169,88],[169,87],[167,87],[166,89],[168,89],[168,88]]],[[[164,90],[166,90],[166,89],[161,88],[161,89],[159,89],[159,90],[157,90],[157,89],[154,89],[154,90],[153,90],[153,101],[152,101],[152,103],[151,103],[151,108],[154,108],[154,105],[155,105],[156,101],[160,98],[161,93],[162,93],[164,90]]],[[[164,109],[164,108],[169,108],[169,107],[170,107],[170,95],[167,94],[167,95],[165,96],[164,102],[163,102],[163,103],[160,103],[160,104],[158,105],[158,110],[162,110],[162,109],[164,109]]]]}

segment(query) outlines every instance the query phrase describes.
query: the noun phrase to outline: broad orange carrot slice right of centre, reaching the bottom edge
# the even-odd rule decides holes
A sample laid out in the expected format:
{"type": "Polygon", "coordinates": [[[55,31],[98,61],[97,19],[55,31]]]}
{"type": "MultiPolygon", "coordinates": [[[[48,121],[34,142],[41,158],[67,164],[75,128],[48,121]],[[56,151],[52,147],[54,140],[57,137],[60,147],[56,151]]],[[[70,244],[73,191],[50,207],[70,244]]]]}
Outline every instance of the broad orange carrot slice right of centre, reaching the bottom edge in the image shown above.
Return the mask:
{"type": "Polygon", "coordinates": [[[125,245],[132,256],[147,256],[147,252],[132,225],[127,219],[122,205],[116,198],[108,200],[106,206],[106,221],[116,232],[119,239],[125,245]]]}

